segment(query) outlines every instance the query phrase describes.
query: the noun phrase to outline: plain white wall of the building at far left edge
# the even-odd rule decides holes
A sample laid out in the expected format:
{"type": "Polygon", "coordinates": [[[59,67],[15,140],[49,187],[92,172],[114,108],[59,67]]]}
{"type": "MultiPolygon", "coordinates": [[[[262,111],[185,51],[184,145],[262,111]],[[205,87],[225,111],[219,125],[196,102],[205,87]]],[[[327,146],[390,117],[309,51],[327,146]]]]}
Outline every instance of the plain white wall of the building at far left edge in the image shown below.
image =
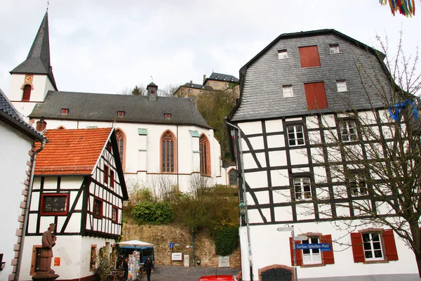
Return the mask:
{"type": "Polygon", "coordinates": [[[3,122],[0,122],[0,136],[0,254],[4,254],[3,261],[6,262],[6,267],[0,271],[0,280],[8,280],[13,269],[11,261],[15,258],[13,245],[18,242],[15,234],[19,228],[18,216],[22,214],[20,202],[23,201],[23,183],[27,178],[25,172],[29,168],[27,161],[32,140],[3,122]]]}

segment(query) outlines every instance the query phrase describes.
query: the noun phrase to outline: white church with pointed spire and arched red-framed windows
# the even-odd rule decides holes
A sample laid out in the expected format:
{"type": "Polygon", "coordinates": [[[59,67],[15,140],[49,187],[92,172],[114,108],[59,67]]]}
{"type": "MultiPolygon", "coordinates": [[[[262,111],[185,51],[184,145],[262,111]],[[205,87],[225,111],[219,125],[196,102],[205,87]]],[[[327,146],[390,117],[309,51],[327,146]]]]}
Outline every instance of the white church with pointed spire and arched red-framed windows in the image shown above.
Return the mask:
{"type": "MultiPolygon", "coordinates": [[[[48,14],[27,59],[11,71],[8,98],[46,129],[116,129],[128,186],[157,188],[159,183],[189,190],[192,177],[222,183],[220,143],[190,98],[58,91],[50,64],[48,14]]],[[[168,188],[167,186],[167,188],[168,188]]]]}

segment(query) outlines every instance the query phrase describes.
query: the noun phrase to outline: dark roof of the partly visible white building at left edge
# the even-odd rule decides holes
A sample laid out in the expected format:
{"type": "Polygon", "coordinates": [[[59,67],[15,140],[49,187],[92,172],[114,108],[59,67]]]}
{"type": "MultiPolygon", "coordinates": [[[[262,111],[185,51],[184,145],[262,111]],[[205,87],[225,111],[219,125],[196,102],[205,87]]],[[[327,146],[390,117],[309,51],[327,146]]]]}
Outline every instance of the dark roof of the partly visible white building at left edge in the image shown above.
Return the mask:
{"type": "Polygon", "coordinates": [[[26,121],[25,117],[21,115],[18,110],[13,107],[11,102],[8,100],[6,95],[0,89],[0,120],[7,124],[15,127],[22,133],[25,133],[30,138],[36,141],[46,141],[46,138],[30,126],[26,121]]]}

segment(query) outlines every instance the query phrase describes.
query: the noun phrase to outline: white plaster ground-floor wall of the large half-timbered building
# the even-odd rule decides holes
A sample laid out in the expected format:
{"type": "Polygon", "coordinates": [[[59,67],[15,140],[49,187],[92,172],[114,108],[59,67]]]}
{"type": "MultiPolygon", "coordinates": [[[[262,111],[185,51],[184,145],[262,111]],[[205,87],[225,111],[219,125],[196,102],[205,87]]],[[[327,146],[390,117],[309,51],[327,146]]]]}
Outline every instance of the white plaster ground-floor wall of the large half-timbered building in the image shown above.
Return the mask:
{"type": "MultiPolygon", "coordinates": [[[[258,269],[273,264],[291,266],[290,261],[290,232],[278,232],[276,228],[283,225],[271,226],[250,226],[251,253],[253,258],[254,280],[258,278],[258,269]]],[[[250,280],[250,271],[248,263],[248,244],[246,240],[246,227],[239,230],[241,239],[241,260],[243,280],[250,280]]],[[[346,231],[340,231],[334,228],[329,222],[323,223],[296,223],[295,235],[313,232],[323,235],[332,235],[333,240],[339,239],[345,235],[340,242],[349,244],[350,235],[346,231]]],[[[381,275],[381,274],[399,274],[417,273],[415,256],[406,244],[394,234],[396,249],[398,251],[399,261],[390,261],[389,263],[354,263],[352,248],[338,243],[333,244],[335,263],[320,267],[298,267],[298,278],[312,277],[340,277],[356,275],[381,275]],[[346,270],[344,270],[346,268],[346,270]]]]}

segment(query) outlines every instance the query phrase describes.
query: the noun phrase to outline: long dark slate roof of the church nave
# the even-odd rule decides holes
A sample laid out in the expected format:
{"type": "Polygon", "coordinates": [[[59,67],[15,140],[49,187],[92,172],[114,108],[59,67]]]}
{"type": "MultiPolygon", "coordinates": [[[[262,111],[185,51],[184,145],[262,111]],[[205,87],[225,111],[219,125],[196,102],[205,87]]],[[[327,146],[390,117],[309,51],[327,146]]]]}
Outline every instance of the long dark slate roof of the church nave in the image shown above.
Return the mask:
{"type": "Polygon", "coordinates": [[[147,96],[48,91],[44,103],[37,103],[29,117],[183,124],[211,129],[189,98],[156,97],[156,101],[149,101],[147,96]],[[67,115],[61,114],[62,108],[68,109],[67,115]],[[124,117],[117,117],[119,111],[124,112],[124,117]],[[166,113],[171,113],[171,119],[164,118],[166,113]]]}

